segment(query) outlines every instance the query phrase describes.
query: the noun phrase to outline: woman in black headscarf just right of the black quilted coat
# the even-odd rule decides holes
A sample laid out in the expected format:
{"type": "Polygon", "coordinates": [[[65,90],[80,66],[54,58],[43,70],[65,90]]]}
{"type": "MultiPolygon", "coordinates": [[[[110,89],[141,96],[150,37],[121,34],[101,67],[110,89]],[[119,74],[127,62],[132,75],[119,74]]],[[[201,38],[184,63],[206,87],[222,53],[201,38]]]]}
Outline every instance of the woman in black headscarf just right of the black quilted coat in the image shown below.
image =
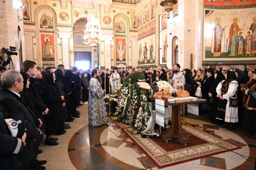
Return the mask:
{"type": "MultiPolygon", "coordinates": [[[[67,107],[67,113],[68,113],[68,119],[66,121],[72,122],[74,121],[74,118],[71,117],[72,113],[72,107],[73,107],[73,98],[71,97],[71,91],[73,91],[76,88],[76,84],[72,81],[72,71],[67,70],[64,74],[64,84],[67,85],[67,88],[70,89],[70,91],[65,91],[65,100],[66,100],[66,107],[67,107]]],[[[74,106],[75,107],[75,106],[74,106]]],[[[75,110],[75,109],[73,109],[75,110]]]]}

